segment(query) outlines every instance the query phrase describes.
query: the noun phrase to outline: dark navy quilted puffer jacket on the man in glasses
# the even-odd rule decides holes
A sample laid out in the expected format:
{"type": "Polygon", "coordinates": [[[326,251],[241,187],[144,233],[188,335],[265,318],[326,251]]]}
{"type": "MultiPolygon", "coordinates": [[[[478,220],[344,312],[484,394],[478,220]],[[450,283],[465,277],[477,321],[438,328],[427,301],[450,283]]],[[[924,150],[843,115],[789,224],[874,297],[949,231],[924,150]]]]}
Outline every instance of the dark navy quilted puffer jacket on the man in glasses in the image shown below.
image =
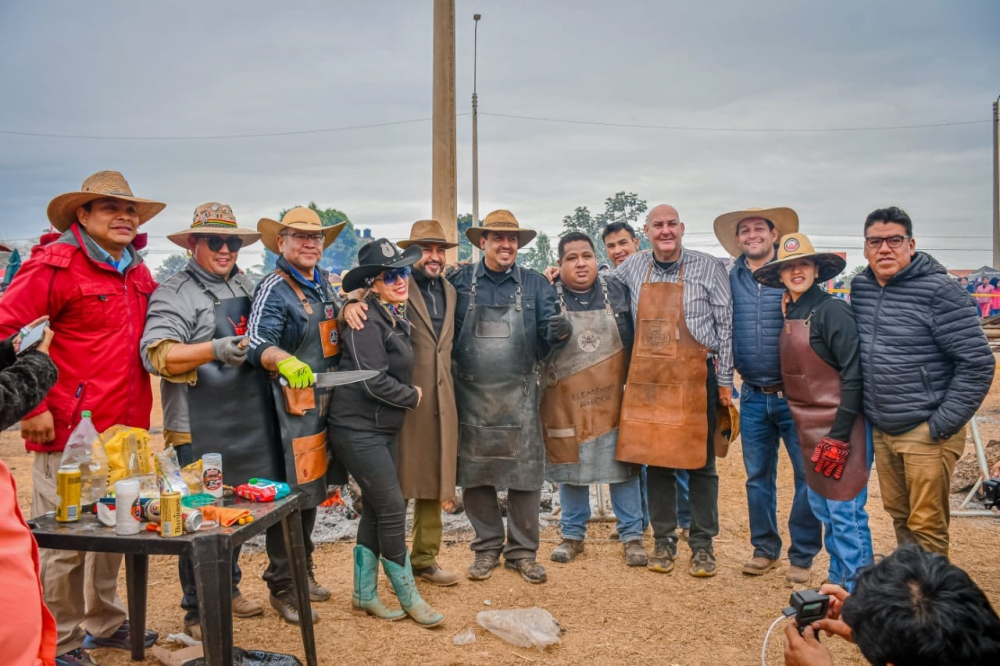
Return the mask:
{"type": "Polygon", "coordinates": [[[883,288],[871,268],[851,282],[861,336],[865,414],[900,435],[924,421],[935,439],[979,409],[995,361],[972,298],[944,266],[917,252],[883,288]]]}

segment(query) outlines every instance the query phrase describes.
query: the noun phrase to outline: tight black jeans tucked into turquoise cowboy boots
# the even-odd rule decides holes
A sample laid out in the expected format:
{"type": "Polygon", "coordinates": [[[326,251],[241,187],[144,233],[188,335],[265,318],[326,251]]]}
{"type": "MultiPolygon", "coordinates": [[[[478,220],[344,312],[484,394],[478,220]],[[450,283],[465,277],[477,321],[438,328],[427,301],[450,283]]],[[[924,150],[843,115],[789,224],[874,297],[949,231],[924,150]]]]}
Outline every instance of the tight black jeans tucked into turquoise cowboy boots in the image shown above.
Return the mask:
{"type": "Polygon", "coordinates": [[[406,500],[396,476],[396,436],[337,428],[334,453],[361,486],[358,544],[376,555],[406,562],[406,500]]]}

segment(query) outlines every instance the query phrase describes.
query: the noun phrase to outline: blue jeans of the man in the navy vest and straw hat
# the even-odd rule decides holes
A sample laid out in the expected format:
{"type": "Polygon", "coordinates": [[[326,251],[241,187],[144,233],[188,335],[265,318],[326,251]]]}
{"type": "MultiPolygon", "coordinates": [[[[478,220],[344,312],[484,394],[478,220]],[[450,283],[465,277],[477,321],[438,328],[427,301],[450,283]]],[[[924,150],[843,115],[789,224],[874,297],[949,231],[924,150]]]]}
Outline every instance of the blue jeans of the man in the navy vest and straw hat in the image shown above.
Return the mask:
{"type": "Polygon", "coordinates": [[[799,451],[788,402],[775,393],[762,393],[743,384],[740,396],[740,436],[743,465],[747,471],[747,505],[750,510],[750,543],[754,557],[781,557],[778,533],[778,451],[784,441],[795,477],[795,496],[788,516],[792,543],[788,560],[808,569],[823,546],[822,523],[809,505],[804,463],[799,451]]]}

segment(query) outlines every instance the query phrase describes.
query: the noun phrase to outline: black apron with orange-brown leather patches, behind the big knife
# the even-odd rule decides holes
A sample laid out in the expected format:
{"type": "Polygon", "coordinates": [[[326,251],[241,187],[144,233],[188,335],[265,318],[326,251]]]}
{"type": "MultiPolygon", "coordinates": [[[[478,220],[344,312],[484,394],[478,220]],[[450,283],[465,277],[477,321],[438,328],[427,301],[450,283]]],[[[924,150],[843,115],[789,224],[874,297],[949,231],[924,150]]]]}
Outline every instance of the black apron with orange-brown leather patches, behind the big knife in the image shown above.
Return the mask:
{"type": "MultiPolygon", "coordinates": [[[[333,372],[340,354],[334,302],[310,303],[295,280],[282,271],[278,273],[309,316],[306,336],[295,350],[295,357],[313,372],[333,372]]],[[[326,288],[324,285],[324,293],[326,288]]],[[[302,493],[303,508],[311,509],[326,500],[328,483],[347,482],[343,466],[333,457],[326,441],[326,415],[333,389],[293,389],[282,386],[279,380],[280,376],[271,381],[271,390],[281,428],[286,481],[302,493]]]]}

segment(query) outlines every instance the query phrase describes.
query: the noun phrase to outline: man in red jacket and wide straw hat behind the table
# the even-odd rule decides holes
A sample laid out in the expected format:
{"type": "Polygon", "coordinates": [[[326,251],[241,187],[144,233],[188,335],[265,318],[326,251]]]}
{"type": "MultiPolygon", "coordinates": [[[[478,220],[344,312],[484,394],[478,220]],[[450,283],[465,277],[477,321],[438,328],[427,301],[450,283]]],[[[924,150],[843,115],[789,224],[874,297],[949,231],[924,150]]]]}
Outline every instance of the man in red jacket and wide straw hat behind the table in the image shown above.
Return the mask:
{"type": "MultiPolygon", "coordinates": [[[[35,454],[32,516],[56,508],[56,472],[81,412],[93,413],[98,431],[118,423],[149,428],[152,391],[139,339],[156,282],[132,241],[163,208],[134,197],[120,173],[95,173],[80,191],[49,203],[49,221],[62,236],[36,247],[4,294],[0,336],[45,315],[55,333],[50,354],[59,379],[21,421],[25,448],[35,454]]],[[[94,663],[81,648],[128,648],[117,595],[121,561],[113,553],[42,551],[45,603],[59,632],[57,664],[94,663]]],[[[147,632],[147,645],[155,640],[147,632]]]]}

